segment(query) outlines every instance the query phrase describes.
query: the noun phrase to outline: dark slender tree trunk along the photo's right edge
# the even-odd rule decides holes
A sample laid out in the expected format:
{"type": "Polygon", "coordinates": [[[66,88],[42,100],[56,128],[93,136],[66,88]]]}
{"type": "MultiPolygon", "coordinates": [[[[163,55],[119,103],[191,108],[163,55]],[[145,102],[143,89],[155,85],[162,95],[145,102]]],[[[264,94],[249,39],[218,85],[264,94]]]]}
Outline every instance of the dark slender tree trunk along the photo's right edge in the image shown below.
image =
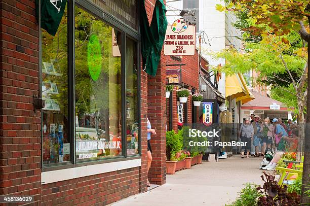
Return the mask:
{"type": "MultiPolygon", "coordinates": [[[[308,5],[310,7],[310,5],[308,5]]],[[[310,25],[310,17],[308,16],[308,23],[310,25]]],[[[308,66],[309,69],[309,58],[310,57],[310,35],[308,36],[308,66]]],[[[303,160],[303,173],[302,173],[302,189],[301,189],[301,203],[307,204],[310,199],[304,192],[307,190],[306,187],[310,184],[310,74],[308,70],[308,85],[307,85],[307,115],[306,115],[306,127],[305,127],[305,138],[304,138],[304,160],[303,160]]]]}

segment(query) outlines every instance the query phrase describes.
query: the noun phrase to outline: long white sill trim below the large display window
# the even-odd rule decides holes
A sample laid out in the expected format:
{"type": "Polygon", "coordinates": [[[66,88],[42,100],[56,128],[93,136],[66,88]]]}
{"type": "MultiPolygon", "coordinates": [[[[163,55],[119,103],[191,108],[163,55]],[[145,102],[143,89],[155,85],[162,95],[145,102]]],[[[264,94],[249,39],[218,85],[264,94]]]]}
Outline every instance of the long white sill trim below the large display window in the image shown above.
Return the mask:
{"type": "Polygon", "coordinates": [[[64,180],[82,178],[91,175],[109,173],[110,171],[118,171],[138,166],[141,166],[141,159],[132,159],[119,162],[93,164],[68,169],[44,171],[43,173],[41,173],[41,184],[44,185],[64,180]]]}

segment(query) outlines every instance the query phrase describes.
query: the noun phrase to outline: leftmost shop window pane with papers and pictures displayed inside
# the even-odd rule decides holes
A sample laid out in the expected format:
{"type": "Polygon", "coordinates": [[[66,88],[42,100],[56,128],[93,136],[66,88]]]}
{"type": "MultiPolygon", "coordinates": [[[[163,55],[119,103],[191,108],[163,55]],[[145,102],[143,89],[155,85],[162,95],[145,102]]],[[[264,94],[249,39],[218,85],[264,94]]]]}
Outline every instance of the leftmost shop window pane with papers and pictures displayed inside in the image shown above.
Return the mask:
{"type": "Polygon", "coordinates": [[[70,161],[68,136],[67,9],[55,37],[42,29],[43,164],[70,161]]]}

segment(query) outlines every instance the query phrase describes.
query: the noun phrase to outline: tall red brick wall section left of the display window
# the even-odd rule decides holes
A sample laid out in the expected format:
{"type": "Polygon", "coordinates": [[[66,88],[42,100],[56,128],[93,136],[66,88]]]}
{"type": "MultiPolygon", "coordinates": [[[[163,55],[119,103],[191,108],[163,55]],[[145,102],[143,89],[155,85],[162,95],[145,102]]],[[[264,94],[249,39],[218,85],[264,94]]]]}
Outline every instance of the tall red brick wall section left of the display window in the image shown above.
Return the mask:
{"type": "Polygon", "coordinates": [[[38,27],[34,0],[2,0],[0,71],[0,195],[41,200],[41,114],[38,93],[38,27]]]}

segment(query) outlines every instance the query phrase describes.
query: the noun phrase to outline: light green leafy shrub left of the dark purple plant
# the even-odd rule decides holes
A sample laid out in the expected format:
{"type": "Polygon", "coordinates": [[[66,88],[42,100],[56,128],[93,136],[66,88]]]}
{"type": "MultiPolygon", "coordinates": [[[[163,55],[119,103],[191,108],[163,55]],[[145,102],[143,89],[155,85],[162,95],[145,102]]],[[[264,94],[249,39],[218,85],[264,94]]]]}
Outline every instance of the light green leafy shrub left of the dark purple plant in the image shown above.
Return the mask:
{"type": "Polygon", "coordinates": [[[256,206],[258,198],[262,195],[256,190],[257,185],[253,183],[246,183],[245,188],[239,192],[240,196],[235,202],[231,204],[225,204],[226,206],[256,206]]]}

